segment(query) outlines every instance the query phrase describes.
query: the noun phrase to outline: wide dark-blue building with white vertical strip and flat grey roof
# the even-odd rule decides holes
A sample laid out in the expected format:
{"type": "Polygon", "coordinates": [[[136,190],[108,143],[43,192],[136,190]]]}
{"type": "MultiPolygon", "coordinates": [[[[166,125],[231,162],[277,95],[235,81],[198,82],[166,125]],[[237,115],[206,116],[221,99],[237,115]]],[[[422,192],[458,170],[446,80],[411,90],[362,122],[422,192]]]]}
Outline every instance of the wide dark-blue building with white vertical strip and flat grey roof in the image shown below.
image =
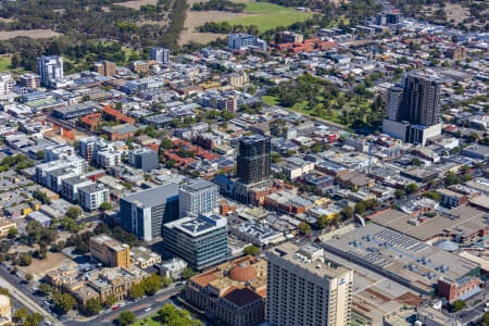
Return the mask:
{"type": "Polygon", "coordinates": [[[162,235],[163,224],[178,218],[178,185],[168,184],[120,200],[121,226],[139,239],[152,241],[162,235]]]}

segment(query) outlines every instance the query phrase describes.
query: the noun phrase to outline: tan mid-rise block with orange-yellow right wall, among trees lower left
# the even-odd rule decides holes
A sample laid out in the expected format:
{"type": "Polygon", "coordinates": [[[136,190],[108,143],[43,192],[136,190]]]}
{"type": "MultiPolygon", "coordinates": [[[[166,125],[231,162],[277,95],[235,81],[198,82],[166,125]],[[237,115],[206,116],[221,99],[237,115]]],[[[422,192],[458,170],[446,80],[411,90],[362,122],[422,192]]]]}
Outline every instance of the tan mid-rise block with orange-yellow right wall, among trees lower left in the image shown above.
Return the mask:
{"type": "Polygon", "coordinates": [[[90,238],[90,254],[108,267],[128,268],[130,265],[129,246],[106,236],[90,238]]]}

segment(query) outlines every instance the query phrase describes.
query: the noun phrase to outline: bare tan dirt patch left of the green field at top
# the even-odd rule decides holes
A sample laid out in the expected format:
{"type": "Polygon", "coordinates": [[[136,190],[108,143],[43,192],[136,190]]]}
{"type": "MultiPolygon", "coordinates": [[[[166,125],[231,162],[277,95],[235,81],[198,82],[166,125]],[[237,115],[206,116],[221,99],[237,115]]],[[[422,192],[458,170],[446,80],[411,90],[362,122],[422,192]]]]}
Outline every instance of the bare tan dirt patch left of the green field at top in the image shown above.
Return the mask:
{"type": "MultiPolygon", "coordinates": [[[[195,1],[199,2],[199,1],[195,1]]],[[[184,29],[180,33],[180,39],[178,43],[185,45],[189,41],[195,41],[199,43],[208,43],[217,38],[225,37],[225,34],[214,34],[214,33],[199,33],[196,28],[202,26],[206,22],[221,22],[221,21],[231,21],[236,18],[247,17],[253,14],[250,13],[235,13],[226,11],[187,11],[187,18],[185,20],[184,29]]]]}

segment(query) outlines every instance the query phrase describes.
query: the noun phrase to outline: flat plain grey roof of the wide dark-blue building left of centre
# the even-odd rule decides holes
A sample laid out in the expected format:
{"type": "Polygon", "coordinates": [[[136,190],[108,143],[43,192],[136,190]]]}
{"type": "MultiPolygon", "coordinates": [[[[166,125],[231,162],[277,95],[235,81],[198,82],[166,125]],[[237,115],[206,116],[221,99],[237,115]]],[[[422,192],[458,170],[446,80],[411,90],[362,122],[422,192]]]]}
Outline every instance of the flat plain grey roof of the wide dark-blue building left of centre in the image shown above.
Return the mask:
{"type": "Polygon", "coordinates": [[[123,200],[134,203],[140,208],[152,208],[166,203],[168,200],[178,198],[178,185],[167,184],[150,188],[134,195],[124,197],[123,200]]]}

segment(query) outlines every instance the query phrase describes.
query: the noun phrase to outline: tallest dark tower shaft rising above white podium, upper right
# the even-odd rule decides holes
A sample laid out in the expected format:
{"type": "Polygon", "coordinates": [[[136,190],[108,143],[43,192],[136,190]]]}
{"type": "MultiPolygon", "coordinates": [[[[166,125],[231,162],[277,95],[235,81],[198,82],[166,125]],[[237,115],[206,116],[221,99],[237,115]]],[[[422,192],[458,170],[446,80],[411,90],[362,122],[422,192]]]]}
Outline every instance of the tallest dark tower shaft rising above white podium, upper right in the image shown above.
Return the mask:
{"type": "Polygon", "coordinates": [[[401,103],[401,121],[427,127],[438,124],[440,91],[440,79],[419,73],[408,74],[401,103]]]}

